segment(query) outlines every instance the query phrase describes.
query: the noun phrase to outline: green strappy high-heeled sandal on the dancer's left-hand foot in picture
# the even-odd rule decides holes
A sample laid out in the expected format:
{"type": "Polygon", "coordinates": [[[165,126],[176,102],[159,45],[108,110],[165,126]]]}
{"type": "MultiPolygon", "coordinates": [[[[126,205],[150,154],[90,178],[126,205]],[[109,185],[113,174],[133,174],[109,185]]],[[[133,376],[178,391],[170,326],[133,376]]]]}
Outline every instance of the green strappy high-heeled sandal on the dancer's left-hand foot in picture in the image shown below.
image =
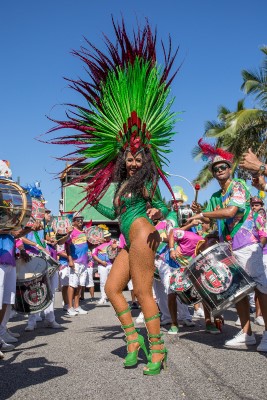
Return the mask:
{"type": "MultiPolygon", "coordinates": [[[[126,314],[127,312],[131,312],[131,310],[128,308],[127,310],[124,310],[124,311],[118,313],[117,316],[120,317],[121,315],[126,314]]],[[[125,332],[125,329],[129,329],[129,328],[134,328],[134,324],[132,323],[130,325],[122,325],[122,329],[124,330],[126,340],[127,340],[128,336],[133,335],[134,333],[138,333],[135,328],[130,332],[125,332]]],[[[147,351],[147,348],[145,345],[145,339],[142,335],[140,335],[138,333],[138,336],[136,339],[127,340],[127,356],[125,357],[124,362],[123,362],[123,365],[125,368],[134,367],[135,365],[137,365],[138,353],[139,353],[140,349],[143,350],[143,352],[146,355],[146,358],[148,359],[149,354],[148,354],[148,351],[147,351]],[[129,352],[128,345],[132,344],[132,343],[139,343],[139,347],[138,347],[138,349],[129,352]]]]}

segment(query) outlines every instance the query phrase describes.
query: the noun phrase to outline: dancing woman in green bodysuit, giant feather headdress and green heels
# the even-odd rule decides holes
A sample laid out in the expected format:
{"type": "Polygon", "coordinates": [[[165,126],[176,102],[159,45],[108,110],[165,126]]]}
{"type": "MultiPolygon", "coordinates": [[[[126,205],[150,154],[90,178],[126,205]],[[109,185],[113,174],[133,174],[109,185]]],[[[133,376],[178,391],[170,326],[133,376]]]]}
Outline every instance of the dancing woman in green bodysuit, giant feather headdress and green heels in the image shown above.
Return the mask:
{"type": "MultiPolygon", "coordinates": [[[[144,338],[133,321],[122,290],[132,278],[135,295],[145,316],[151,357],[144,374],[156,375],[165,366],[167,350],[160,334],[160,314],[152,295],[155,251],[159,234],[152,221],[166,216],[157,183],[166,181],[162,165],[167,160],[175,115],[170,111],[168,78],[174,56],[165,51],[165,65],[156,62],[156,37],[148,23],[131,40],[125,24],[113,21],[117,43],[106,39],[108,55],[93,45],[75,54],[85,61],[92,82],[75,81],[73,87],[89,102],[90,110],[74,108],[75,117],[57,121],[54,128],[77,129],[79,134],[52,139],[65,144],[77,141],[76,163],[89,162],[75,182],[87,182],[85,204],[93,205],[109,219],[119,218],[127,248],[120,251],[109,274],[105,291],[116,310],[128,340],[124,365],[137,364],[144,338]],[[78,113],[78,115],[77,115],[78,113]],[[82,146],[80,146],[82,144],[82,146]],[[116,183],[114,207],[99,203],[110,183],[116,183]]],[[[176,73],[175,73],[176,74],[176,73]]],[[[174,74],[174,75],[175,75],[174,74]]],[[[53,130],[53,129],[52,129],[53,130]]]]}

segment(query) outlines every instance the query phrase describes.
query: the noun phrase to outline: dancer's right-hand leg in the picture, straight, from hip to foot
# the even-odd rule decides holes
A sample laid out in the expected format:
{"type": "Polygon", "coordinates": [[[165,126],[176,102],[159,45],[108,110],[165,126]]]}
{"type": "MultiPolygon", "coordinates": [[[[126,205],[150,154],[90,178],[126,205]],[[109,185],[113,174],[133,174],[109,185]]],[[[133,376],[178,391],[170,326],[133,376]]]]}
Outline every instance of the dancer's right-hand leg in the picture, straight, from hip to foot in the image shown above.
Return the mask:
{"type": "MultiPolygon", "coordinates": [[[[135,295],[141,305],[151,345],[159,342],[160,318],[158,306],[153,298],[155,251],[160,242],[159,233],[145,219],[136,220],[130,230],[131,246],[129,250],[130,275],[135,295]]],[[[153,345],[153,350],[162,350],[163,344],[153,345]]],[[[152,362],[159,362],[165,354],[152,353],[152,362]]],[[[145,367],[147,369],[147,367],[145,367]]]]}

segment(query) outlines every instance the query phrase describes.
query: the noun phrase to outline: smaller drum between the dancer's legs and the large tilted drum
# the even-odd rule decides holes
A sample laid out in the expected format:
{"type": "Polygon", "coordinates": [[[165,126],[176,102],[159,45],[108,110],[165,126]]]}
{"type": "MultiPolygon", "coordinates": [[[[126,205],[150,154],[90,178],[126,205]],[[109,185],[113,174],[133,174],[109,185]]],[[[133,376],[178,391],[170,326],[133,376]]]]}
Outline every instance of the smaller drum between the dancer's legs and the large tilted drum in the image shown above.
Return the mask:
{"type": "Polygon", "coordinates": [[[186,276],[186,269],[181,267],[171,274],[170,290],[179,297],[183,304],[196,304],[201,301],[201,297],[186,276]]]}

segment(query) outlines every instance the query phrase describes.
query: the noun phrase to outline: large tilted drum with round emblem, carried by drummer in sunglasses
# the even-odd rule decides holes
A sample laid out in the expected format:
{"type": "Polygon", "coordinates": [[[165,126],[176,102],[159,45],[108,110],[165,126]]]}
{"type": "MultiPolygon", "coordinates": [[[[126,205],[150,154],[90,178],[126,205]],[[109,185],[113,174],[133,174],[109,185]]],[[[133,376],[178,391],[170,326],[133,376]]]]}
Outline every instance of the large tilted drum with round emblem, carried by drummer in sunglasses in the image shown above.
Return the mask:
{"type": "Polygon", "coordinates": [[[238,265],[229,243],[218,243],[201,252],[186,274],[213,315],[238,303],[256,286],[238,265]]]}

